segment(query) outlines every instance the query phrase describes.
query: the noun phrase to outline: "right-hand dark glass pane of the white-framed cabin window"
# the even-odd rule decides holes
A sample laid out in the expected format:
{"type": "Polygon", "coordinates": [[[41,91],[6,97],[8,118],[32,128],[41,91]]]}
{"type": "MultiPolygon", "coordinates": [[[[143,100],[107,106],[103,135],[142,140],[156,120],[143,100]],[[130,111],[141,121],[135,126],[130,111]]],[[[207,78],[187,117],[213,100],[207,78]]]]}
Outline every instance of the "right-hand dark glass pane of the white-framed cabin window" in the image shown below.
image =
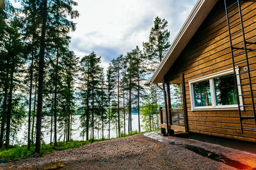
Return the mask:
{"type": "Polygon", "coordinates": [[[237,104],[234,74],[214,78],[216,104],[237,104]]]}

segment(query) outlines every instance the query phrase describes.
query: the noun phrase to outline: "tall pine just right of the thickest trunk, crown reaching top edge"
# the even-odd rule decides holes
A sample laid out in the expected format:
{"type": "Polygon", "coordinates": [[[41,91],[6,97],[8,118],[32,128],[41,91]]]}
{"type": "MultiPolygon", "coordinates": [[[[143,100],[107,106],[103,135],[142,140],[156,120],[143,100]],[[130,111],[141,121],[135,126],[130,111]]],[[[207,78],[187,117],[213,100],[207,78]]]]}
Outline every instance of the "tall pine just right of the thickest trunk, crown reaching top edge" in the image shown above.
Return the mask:
{"type": "Polygon", "coordinates": [[[49,30],[48,36],[51,37],[51,50],[54,49],[54,55],[56,55],[56,64],[54,64],[55,82],[54,82],[54,146],[57,145],[57,110],[58,110],[58,91],[61,86],[61,67],[59,66],[61,58],[67,52],[68,43],[70,37],[68,33],[74,31],[76,25],[71,20],[68,20],[68,15],[71,18],[79,16],[77,11],[72,10],[72,6],[77,5],[72,0],[60,1],[56,0],[49,4],[49,24],[47,29],[49,30]]]}

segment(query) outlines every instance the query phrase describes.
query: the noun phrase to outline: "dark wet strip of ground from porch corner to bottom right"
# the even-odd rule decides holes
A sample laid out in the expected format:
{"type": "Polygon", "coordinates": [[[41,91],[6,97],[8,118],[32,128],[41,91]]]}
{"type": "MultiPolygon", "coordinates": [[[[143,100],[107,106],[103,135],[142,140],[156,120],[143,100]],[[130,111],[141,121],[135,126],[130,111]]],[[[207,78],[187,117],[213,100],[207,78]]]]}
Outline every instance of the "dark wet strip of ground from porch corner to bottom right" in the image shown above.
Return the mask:
{"type": "Polygon", "coordinates": [[[251,167],[246,164],[242,164],[241,162],[237,160],[232,160],[226,157],[225,155],[222,155],[221,153],[214,153],[209,150],[205,150],[204,148],[200,148],[198,146],[194,145],[186,145],[184,143],[180,143],[174,139],[168,139],[164,138],[163,136],[160,136],[157,134],[157,132],[147,132],[144,134],[145,136],[156,139],[158,141],[166,141],[170,145],[177,145],[177,146],[182,146],[183,148],[186,148],[188,150],[191,150],[192,152],[195,152],[199,155],[202,155],[204,157],[207,157],[209,159],[215,160],[217,162],[222,162],[223,164],[227,164],[228,166],[235,167],[236,169],[251,169],[251,170],[256,170],[256,167],[251,167]]]}

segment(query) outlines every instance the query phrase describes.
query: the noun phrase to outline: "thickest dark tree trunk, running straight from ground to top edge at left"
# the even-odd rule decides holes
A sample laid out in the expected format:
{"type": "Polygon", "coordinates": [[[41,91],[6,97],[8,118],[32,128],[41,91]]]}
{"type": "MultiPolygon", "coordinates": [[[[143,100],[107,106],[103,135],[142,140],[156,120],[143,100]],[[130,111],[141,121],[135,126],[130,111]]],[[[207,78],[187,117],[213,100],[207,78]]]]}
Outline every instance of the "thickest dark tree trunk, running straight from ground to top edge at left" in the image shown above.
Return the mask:
{"type": "Polygon", "coordinates": [[[43,102],[43,83],[44,83],[44,53],[45,53],[45,31],[47,19],[47,0],[43,1],[44,10],[42,11],[42,36],[39,57],[39,73],[38,73],[38,101],[36,111],[36,148],[35,152],[40,153],[40,140],[41,140],[41,124],[42,124],[42,102],[43,102]]]}

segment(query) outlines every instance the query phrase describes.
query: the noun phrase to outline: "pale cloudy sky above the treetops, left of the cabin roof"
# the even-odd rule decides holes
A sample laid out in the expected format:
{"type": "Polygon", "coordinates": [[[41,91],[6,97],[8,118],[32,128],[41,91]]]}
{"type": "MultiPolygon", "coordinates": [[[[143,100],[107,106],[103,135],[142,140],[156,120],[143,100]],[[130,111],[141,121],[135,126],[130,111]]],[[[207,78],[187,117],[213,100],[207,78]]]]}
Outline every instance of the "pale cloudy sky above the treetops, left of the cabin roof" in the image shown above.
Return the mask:
{"type": "Polygon", "coordinates": [[[154,18],[168,21],[170,41],[179,32],[196,0],[75,0],[80,13],[70,50],[83,56],[94,51],[106,69],[111,59],[148,41],[154,18]]]}

